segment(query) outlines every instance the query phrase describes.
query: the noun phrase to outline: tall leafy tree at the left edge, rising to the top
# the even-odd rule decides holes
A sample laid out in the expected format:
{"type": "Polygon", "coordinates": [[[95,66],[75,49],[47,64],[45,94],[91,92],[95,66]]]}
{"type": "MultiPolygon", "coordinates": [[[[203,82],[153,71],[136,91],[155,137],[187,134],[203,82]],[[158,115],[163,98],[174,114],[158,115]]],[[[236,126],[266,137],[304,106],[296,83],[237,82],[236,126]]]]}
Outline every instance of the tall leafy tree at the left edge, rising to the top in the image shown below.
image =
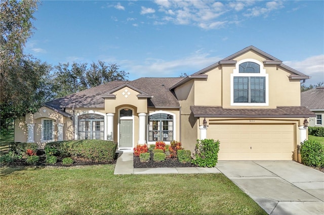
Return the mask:
{"type": "Polygon", "coordinates": [[[36,9],[37,1],[34,0],[1,0],[0,123],[2,132],[8,130],[8,126],[15,118],[34,110],[39,104],[38,96],[43,94],[39,85],[47,72],[48,65],[34,61],[23,54],[23,47],[32,34],[31,21],[34,19],[33,13],[36,9]]]}

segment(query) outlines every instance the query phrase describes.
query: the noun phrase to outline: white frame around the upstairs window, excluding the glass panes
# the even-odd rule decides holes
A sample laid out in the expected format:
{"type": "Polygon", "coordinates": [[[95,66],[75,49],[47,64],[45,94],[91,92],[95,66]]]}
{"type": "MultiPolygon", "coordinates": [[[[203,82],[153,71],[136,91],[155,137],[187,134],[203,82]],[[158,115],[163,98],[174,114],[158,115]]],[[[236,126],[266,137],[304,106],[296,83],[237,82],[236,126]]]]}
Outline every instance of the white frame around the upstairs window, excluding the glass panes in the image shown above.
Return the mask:
{"type": "Polygon", "coordinates": [[[230,76],[231,106],[269,106],[269,75],[263,64],[255,59],[244,59],[236,63],[236,67],[230,76]],[[253,62],[260,66],[260,73],[239,73],[239,65],[245,62],[253,62]],[[234,77],[265,77],[265,102],[264,103],[237,103],[234,102],[234,77]]]}

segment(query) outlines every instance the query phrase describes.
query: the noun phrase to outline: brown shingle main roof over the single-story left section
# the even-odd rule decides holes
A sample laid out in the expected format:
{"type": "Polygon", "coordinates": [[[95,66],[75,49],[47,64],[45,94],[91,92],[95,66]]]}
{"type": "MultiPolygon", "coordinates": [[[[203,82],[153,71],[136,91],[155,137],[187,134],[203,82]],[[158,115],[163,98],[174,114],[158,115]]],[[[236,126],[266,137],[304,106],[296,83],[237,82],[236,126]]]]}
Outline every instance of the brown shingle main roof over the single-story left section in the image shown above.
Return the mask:
{"type": "MultiPolygon", "coordinates": [[[[114,91],[130,87],[139,92],[138,97],[147,97],[148,106],[155,108],[180,108],[180,103],[169,90],[183,78],[140,78],[134,81],[112,81],[45,103],[45,106],[64,114],[64,108],[104,108],[104,98],[114,91]]],[[[65,113],[67,114],[67,113],[65,113]]]]}

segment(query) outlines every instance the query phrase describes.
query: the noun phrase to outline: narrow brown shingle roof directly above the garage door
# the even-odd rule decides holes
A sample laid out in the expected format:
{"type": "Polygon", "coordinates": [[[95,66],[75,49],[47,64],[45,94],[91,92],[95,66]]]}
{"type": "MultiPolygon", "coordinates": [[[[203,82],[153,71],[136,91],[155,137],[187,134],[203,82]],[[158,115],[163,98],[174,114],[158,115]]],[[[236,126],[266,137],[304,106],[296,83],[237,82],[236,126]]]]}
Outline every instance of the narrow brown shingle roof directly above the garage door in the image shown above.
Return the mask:
{"type": "Polygon", "coordinates": [[[278,106],[276,109],[223,109],[221,106],[190,106],[194,117],[304,118],[315,117],[304,106],[278,106]]]}

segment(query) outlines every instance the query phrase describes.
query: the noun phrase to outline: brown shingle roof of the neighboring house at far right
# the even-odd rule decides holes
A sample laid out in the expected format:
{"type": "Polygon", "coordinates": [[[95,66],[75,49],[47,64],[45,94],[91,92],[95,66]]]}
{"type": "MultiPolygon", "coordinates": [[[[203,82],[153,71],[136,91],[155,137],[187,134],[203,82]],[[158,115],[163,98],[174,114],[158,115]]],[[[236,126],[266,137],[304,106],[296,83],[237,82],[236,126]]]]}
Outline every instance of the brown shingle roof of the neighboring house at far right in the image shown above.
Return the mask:
{"type": "Polygon", "coordinates": [[[309,110],[324,110],[324,87],[302,92],[301,105],[309,110]]]}

